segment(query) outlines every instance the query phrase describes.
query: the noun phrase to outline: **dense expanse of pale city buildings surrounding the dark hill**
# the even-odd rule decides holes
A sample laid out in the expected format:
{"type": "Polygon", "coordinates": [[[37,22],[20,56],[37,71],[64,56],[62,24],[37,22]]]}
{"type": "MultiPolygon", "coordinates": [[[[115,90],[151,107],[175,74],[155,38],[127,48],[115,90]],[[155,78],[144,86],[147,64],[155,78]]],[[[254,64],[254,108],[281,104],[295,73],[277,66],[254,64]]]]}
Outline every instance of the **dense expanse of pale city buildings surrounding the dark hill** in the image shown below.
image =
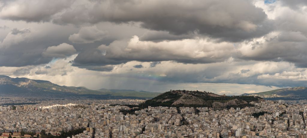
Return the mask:
{"type": "MultiPolygon", "coordinates": [[[[7,100],[7,99],[6,99],[7,100]]],[[[144,100],[36,101],[0,108],[0,132],[59,135],[84,128],[72,138],[305,138],[305,102],[251,102],[252,107],[151,107],[123,114],[144,100]],[[289,103],[289,104],[287,104],[289,103]],[[115,105],[119,104],[119,105],[115,105]]],[[[25,135],[26,136],[26,135],[25,135]]],[[[0,136],[1,137],[1,136],[0,136]]]]}

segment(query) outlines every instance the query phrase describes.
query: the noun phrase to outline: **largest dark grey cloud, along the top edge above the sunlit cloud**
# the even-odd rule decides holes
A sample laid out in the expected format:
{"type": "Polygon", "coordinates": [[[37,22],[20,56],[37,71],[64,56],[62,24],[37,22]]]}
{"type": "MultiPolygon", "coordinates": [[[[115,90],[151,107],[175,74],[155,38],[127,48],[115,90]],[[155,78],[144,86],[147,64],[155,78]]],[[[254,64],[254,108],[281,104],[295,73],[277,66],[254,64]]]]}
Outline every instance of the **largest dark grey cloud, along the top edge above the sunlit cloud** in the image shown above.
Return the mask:
{"type": "Polygon", "coordinates": [[[141,26],[147,29],[175,35],[196,32],[228,41],[254,38],[272,30],[272,23],[262,9],[246,0],[97,1],[92,9],[83,9],[83,14],[77,15],[79,12],[72,10],[75,9],[67,10],[55,21],[72,24],[136,21],[142,22],[141,26]],[[75,16],[80,20],[67,19],[75,16]]]}

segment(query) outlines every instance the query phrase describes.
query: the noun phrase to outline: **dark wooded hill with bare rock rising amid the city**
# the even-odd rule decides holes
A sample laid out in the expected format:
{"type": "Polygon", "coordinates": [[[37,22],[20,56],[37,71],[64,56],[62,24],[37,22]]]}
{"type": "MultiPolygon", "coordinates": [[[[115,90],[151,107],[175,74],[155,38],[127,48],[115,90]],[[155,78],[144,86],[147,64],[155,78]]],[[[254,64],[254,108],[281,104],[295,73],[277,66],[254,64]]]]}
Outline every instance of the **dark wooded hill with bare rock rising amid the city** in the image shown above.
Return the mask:
{"type": "Polygon", "coordinates": [[[153,99],[146,100],[141,106],[229,108],[250,106],[249,102],[258,100],[262,100],[262,98],[254,96],[217,95],[205,91],[171,90],[153,99]]]}

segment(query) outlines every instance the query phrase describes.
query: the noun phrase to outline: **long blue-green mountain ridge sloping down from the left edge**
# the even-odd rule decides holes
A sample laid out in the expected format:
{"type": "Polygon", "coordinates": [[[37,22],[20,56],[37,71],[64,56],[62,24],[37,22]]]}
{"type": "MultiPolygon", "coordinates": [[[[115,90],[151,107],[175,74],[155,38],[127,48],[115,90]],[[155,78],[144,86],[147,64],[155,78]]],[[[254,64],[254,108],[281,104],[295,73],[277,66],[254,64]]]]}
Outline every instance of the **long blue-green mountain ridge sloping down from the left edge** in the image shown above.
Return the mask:
{"type": "Polygon", "coordinates": [[[91,90],[84,86],[60,86],[45,80],[33,80],[18,77],[11,78],[9,76],[0,75],[0,94],[110,94],[115,96],[153,98],[161,93],[117,89],[91,90]]]}

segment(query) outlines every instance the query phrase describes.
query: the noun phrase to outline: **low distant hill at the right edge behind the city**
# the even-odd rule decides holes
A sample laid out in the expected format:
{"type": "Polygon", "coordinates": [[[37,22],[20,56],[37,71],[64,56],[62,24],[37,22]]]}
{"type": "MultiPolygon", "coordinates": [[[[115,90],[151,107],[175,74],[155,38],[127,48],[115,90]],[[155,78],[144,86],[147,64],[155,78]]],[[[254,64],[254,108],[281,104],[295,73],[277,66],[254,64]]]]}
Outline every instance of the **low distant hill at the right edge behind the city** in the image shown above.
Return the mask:
{"type": "Polygon", "coordinates": [[[242,95],[254,95],[262,98],[293,97],[293,96],[307,97],[307,87],[283,88],[283,89],[270,90],[260,93],[242,94],[242,95]]]}

